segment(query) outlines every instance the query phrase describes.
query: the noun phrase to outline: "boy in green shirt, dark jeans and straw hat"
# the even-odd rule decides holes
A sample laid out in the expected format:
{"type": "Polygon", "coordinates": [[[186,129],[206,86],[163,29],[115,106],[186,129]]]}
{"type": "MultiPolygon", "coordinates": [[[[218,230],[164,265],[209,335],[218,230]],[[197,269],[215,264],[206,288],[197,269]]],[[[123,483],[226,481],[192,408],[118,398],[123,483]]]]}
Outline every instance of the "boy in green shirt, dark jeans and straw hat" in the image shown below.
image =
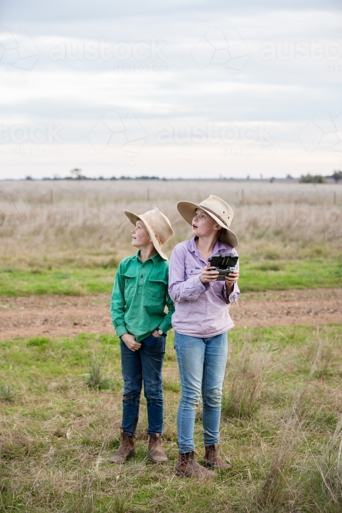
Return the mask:
{"type": "Polygon", "coordinates": [[[124,378],[121,442],[111,459],[125,463],[134,452],[134,434],[139,416],[144,380],[147,400],[148,454],[155,463],[167,461],[160,443],[163,432],[162,366],[166,333],[174,312],[168,294],[169,262],[162,252],[174,234],[168,218],[155,207],[137,215],[124,210],[134,225],[132,246],[138,252],[118,266],[111,299],[112,321],[120,337],[124,378]],[[168,313],[165,313],[165,306],[168,313]]]}

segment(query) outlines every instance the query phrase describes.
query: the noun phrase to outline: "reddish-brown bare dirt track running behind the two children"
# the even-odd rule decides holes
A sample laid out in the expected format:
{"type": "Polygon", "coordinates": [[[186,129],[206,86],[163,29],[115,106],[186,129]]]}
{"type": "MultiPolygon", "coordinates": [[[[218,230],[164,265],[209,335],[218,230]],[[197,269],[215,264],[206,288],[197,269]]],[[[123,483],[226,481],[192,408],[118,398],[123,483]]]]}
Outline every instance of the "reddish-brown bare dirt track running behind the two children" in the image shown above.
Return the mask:
{"type": "MultiPolygon", "coordinates": [[[[110,333],[110,296],[0,298],[0,339],[110,333]]],[[[249,292],[231,305],[236,326],[342,323],[342,288],[249,292]]]]}

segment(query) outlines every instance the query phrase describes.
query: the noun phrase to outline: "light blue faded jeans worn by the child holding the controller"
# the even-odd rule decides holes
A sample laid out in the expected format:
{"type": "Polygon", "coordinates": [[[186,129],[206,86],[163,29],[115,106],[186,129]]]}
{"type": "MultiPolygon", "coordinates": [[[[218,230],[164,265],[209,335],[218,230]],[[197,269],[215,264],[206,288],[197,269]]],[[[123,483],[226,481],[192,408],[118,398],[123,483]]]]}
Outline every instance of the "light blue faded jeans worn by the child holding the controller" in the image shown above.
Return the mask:
{"type": "Polygon", "coordinates": [[[179,452],[185,453],[195,449],[193,432],[201,392],[204,445],[210,447],[218,444],[222,387],[228,356],[227,331],[205,339],[175,332],[174,340],[182,384],[177,415],[178,448],[179,452]]]}

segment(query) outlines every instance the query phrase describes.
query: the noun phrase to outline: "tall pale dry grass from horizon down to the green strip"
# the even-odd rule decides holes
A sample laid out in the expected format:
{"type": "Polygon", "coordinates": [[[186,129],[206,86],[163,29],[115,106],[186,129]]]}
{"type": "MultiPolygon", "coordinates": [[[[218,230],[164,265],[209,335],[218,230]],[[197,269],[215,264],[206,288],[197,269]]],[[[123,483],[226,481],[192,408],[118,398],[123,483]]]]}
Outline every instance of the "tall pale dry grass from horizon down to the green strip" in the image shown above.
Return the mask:
{"type": "Polygon", "coordinates": [[[124,208],[142,213],[158,206],[175,236],[166,251],[191,234],[176,210],[180,200],[215,194],[234,209],[240,253],[255,259],[339,255],[342,186],[267,181],[21,181],[0,182],[2,258],[120,259],[131,252],[124,208]],[[17,216],[15,214],[18,214],[17,216]],[[14,232],[13,232],[14,230],[14,232]],[[13,238],[13,234],[15,235],[13,238]],[[21,242],[21,244],[17,244],[21,242]],[[22,248],[25,247],[26,251],[22,248]],[[54,254],[51,254],[51,253],[54,254]]]}

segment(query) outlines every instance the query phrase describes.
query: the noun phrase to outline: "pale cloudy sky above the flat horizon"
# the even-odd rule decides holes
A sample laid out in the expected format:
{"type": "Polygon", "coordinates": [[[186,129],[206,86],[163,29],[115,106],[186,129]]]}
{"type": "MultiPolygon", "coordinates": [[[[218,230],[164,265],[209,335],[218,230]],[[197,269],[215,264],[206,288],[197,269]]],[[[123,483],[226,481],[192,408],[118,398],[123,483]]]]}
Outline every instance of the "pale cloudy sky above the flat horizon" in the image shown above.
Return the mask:
{"type": "Polygon", "coordinates": [[[0,178],[342,160],[340,2],[0,0],[0,178]]]}

